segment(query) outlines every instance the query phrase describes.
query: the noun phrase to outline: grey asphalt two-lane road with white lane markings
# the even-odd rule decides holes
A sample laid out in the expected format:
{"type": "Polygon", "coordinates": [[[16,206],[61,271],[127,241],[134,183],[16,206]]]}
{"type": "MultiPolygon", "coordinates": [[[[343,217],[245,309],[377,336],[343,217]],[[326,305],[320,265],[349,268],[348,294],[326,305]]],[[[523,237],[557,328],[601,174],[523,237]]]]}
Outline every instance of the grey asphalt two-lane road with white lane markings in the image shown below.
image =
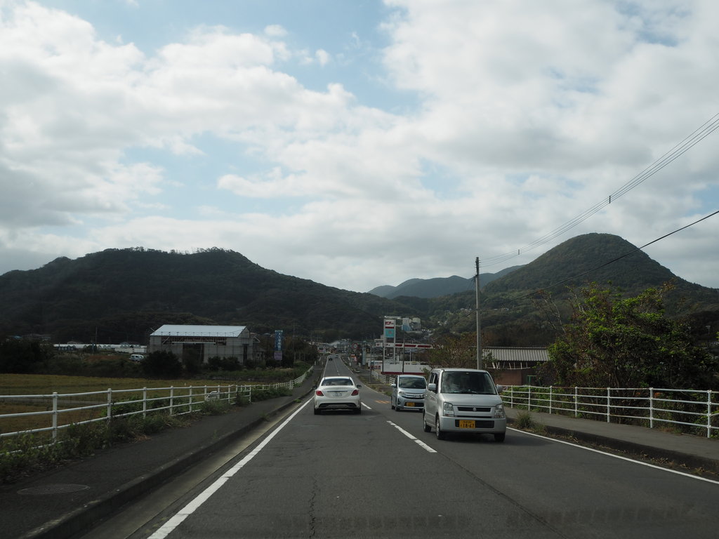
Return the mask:
{"type": "Polygon", "coordinates": [[[299,405],[132,538],[716,537],[718,484],[516,430],[438,441],[361,395],[361,415],[299,405]]]}

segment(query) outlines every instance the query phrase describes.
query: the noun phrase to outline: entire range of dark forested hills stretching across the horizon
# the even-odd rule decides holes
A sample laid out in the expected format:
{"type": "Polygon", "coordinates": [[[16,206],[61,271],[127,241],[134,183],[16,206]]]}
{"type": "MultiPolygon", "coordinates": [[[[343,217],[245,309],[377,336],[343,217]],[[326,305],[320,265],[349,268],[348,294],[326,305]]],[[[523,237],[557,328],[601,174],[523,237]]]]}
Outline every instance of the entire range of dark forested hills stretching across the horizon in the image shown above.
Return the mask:
{"type": "MultiPolygon", "coordinates": [[[[626,294],[673,281],[668,312],[695,317],[697,328],[719,327],[719,290],[682,280],[611,234],[575,236],[533,262],[498,274],[503,275],[493,280],[480,275],[482,331],[494,336],[495,346],[545,344],[551,332],[531,297],[548,290],[551,301],[566,311],[570,289],[592,281],[626,294]]],[[[473,285],[472,279],[453,277],[408,280],[400,293],[427,290],[427,282],[446,285],[448,279],[473,285]]],[[[0,332],[50,333],[58,342],[142,342],[163,323],[215,323],[249,326],[255,333],[283,329],[325,341],[372,339],[380,336],[382,318],[390,314],[416,316],[423,327],[437,331],[474,331],[475,300],[473,286],[425,298],[351,292],[267,270],[226,249],[193,254],[106,249],[0,275],[0,332]]]]}

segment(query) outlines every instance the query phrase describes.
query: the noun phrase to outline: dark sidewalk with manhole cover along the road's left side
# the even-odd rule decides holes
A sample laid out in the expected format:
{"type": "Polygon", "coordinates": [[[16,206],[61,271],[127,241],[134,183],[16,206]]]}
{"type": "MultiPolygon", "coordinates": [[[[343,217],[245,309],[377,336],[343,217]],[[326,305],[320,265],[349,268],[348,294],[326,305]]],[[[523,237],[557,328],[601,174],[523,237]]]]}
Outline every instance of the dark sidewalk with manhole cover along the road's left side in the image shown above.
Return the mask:
{"type": "Polygon", "coordinates": [[[91,528],[201,459],[237,441],[308,395],[321,375],[317,365],[291,397],[233,407],[203,416],[188,428],[99,451],[21,482],[0,486],[0,539],[65,539],[91,528]]]}

